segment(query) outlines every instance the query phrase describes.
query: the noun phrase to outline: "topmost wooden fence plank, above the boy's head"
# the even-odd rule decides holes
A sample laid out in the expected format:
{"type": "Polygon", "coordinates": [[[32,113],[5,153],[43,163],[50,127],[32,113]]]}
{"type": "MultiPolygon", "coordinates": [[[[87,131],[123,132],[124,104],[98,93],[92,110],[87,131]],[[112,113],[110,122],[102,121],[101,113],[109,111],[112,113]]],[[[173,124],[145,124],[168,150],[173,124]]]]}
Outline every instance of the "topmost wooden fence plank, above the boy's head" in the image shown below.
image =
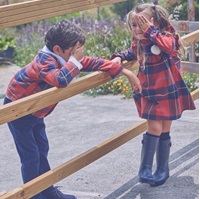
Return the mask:
{"type": "Polygon", "coordinates": [[[35,0],[33,2],[2,6],[0,7],[0,29],[122,1],[125,0],[35,0]]]}

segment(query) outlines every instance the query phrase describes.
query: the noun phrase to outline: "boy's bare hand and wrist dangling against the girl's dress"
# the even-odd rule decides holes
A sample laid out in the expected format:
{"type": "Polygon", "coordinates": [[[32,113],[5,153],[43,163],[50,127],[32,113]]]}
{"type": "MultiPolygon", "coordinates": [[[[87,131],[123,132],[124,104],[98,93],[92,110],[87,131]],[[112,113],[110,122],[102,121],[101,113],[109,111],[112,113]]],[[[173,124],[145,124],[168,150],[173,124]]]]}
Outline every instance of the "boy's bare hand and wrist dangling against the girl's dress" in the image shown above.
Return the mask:
{"type": "Polygon", "coordinates": [[[125,75],[129,79],[129,82],[131,84],[131,87],[132,87],[133,91],[138,90],[139,93],[142,92],[142,87],[140,85],[140,80],[137,78],[137,76],[135,74],[133,74],[130,70],[128,70],[126,68],[123,68],[121,73],[123,75],[125,75]]]}

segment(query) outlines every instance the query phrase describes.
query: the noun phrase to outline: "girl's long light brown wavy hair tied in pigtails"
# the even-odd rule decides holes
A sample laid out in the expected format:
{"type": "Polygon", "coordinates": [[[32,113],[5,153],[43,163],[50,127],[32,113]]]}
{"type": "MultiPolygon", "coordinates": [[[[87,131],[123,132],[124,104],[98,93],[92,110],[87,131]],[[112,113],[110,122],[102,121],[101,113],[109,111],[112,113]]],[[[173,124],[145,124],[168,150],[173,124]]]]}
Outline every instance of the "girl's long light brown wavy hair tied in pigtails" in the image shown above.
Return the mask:
{"type": "MultiPolygon", "coordinates": [[[[167,10],[159,5],[154,5],[151,3],[143,3],[139,4],[135,8],[133,8],[128,14],[127,14],[127,25],[129,30],[132,30],[132,19],[138,14],[144,12],[145,14],[149,15],[150,18],[153,18],[154,24],[156,24],[161,33],[167,32],[167,29],[170,24],[169,20],[169,14],[167,10]]],[[[168,32],[171,34],[170,32],[168,32]]],[[[176,33],[177,34],[177,33],[176,33]]],[[[134,36],[131,35],[131,39],[134,40],[134,36]]],[[[180,37],[179,37],[180,39],[180,37]]],[[[184,52],[183,44],[182,41],[179,40],[179,45],[180,45],[180,52],[184,52]]],[[[137,58],[138,59],[144,58],[144,52],[142,50],[142,46],[140,44],[140,41],[137,43],[137,58]]],[[[143,59],[144,61],[144,59],[143,59]]]]}

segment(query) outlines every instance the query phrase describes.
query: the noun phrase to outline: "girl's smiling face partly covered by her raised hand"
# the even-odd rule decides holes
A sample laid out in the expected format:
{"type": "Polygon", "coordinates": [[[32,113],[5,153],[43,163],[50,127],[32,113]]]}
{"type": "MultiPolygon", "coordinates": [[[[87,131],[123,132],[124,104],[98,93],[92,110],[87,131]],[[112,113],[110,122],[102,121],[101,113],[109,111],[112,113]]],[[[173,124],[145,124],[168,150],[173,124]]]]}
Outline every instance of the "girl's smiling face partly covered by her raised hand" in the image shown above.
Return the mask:
{"type": "Polygon", "coordinates": [[[131,24],[131,30],[133,33],[133,36],[138,39],[138,40],[143,40],[143,39],[147,39],[144,37],[144,32],[141,30],[139,24],[138,24],[138,16],[145,16],[149,21],[150,21],[150,16],[145,14],[145,13],[138,13],[137,15],[134,15],[132,18],[132,24],[131,24]]]}

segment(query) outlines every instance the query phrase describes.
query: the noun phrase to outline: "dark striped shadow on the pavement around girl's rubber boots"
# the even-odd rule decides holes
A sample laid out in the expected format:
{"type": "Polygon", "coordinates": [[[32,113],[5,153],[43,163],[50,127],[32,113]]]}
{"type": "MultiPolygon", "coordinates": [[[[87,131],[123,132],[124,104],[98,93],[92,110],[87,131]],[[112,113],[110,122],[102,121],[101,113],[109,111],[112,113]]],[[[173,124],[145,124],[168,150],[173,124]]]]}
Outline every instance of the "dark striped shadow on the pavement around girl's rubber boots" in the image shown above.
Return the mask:
{"type": "Polygon", "coordinates": [[[136,176],[104,199],[199,198],[199,186],[194,183],[193,177],[183,175],[186,171],[190,170],[191,167],[198,164],[198,153],[199,139],[171,154],[169,166],[173,174],[164,185],[151,187],[147,184],[140,184],[136,176]]]}

